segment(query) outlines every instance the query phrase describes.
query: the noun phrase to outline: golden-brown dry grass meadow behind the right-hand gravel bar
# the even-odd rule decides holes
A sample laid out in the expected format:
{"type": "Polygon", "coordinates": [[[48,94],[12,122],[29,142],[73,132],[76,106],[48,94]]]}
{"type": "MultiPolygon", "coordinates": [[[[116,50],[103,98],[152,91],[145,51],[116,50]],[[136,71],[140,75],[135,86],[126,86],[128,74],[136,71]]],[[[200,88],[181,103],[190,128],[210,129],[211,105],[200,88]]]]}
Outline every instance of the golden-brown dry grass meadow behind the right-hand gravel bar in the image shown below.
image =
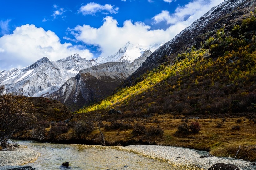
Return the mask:
{"type": "MultiPolygon", "coordinates": [[[[215,156],[224,156],[224,157],[235,157],[239,145],[241,145],[241,150],[237,155],[238,159],[244,159],[249,161],[256,160],[256,124],[249,119],[243,120],[244,117],[241,117],[242,122],[237,123],[237,118],[226,118],[226,121],[223,122],[221,118],[219,119],[189,119],[188,124],[194,121],[198,121],[201,124],[201,131],[198,134],[189,134],[185,136],[175,136],[177,127],[179,124],[183,123],[182,119],[171,119],[173,115],[155,115],[151,120],[149,118],[144,119],[134,119],[127,120],[124,123],[134,124],[135,122],[140,122],[145,126],[157,126],[159,125],[164,130],[164,135],[162,137],[155,137],[150,139],[150,143],[155,143],[157,145],[170,145],[191,148],[196,150],[206,150],[210,154],[215,156]],[[157,119],[158,123],[152,123],[153,120],[157,119]],[[217,128],[217,123],[222,122],[223,126],[217,128]],[[240,130],[232,130],[233,126],[239,125],[240,130]]],[[[150,119],[151,119],[150,118],[150,119]]],[[[120,121],[119,121],[120,122],[120,121]]],[[[110,122],[103,121],[104,124],[110,124],[110,122]]],[[[146,139],[145,136],[133,136],[132,130],[111,130],[105,131],[102,128],[102,132],[105,135],[105,139],[108,144],[115,145],[116,143],[121,143],[122,145],[130,145],[133,143],[143,142],[148,143],[149,139],[146,139]]],[[[90,135],[93,136],[98,133],[98,130],[90,135]]]]}

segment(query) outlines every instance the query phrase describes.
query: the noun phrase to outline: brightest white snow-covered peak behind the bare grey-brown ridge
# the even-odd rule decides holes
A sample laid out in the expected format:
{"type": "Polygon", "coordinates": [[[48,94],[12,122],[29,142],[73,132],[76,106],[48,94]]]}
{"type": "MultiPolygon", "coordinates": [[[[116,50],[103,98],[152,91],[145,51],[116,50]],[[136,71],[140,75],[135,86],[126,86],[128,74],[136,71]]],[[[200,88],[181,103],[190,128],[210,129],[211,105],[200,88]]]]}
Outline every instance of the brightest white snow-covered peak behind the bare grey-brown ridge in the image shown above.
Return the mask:
{"type": "Polygon", "coordinates": [[[116,54],[108,57],[98,57],[96,62],[99,64],[106,62],[133,62],[136,58],[140,57],[144,51],[150,50],[154,52],[157,48],[163,44],[150,44],[149,46],[134,45],[130,42],[126,43],[125,46],[120,48],[116,54]]]}

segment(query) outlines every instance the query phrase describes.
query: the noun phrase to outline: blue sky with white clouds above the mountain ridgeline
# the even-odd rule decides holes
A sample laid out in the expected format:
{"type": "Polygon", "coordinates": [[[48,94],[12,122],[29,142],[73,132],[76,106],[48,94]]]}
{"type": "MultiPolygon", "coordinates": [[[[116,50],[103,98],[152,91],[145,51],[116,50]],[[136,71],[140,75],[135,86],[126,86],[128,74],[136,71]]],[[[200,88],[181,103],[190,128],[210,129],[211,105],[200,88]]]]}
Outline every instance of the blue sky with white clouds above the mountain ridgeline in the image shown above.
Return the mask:
{"type": "Polygon", "coordinates": [[[0,71],[42,57],[108,56],[125,45],[165,43],[223,0],[2,1],[0,71]]]}

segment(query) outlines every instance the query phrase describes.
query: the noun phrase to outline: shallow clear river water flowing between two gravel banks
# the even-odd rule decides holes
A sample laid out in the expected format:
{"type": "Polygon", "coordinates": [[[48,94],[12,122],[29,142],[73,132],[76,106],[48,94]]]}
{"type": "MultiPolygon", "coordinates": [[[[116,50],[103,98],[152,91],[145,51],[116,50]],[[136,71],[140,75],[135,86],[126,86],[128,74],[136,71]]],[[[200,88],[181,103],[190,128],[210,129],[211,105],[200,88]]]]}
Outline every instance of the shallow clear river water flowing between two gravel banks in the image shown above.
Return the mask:
{"type": "Polygon", "coordinates": [[[174,169],[166,162],[111,148],[84,147],[81,145],[40,143],[35,141],[13,140],[12,143],[27,145],[41,153],[33,163],[26,165],[39,169],[174,169]],[[69,162],[69,168],[60,166],[69,162]],[[124,167],[128,166],[128,167],[124,167]]]}

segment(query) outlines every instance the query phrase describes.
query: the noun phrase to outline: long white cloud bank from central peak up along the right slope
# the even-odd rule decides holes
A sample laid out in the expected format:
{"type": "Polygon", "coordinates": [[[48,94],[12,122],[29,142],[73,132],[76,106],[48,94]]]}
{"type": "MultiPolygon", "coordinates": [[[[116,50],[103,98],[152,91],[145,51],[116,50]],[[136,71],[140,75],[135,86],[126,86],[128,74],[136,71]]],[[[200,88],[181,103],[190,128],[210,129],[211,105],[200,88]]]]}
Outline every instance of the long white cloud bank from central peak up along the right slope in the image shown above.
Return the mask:
{"type": "Polygon", "coordinates": [[[116,53],[128,41],[143,46],[165,43],[209,11],[211,7],[221,2],[223,0],[209,0],[207,3],[204,0],[194,0],[183,7],[178,7],[174,14],[162,11],[153,20],[155,23],[166,21],[170,24],[166,30],[151,30],[149,25],[145,25],[143,22],[133,23],[131,20],[126,20],[122,27],[118,27],[117,20],[107,16],[99,28],[93,28],[90,25],[78,25],[74,29],[69,29],[69,32],[77,40],[97,46],[102,51],[101,57],[107,57],[116,53]]]}

